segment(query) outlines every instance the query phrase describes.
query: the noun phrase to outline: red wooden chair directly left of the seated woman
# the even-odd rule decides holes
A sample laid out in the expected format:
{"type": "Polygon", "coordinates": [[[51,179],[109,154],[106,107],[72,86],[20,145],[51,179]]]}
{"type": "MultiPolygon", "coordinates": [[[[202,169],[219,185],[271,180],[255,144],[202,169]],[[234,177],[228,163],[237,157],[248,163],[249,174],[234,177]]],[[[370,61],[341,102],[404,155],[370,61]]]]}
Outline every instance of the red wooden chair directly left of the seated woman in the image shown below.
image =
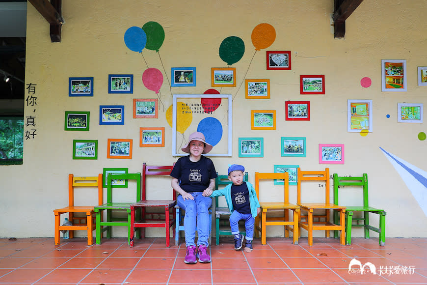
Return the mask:
{"type": "MultiPolygon", "coordinates": [[[[133,229],[142,228],[141,236],[145,237],[145,228],[165,228],[166,230],[166,247],[170,245],[170,227],[175,225],[175,211],[173,207],[176,205],[174,190],[170,200],[149,200],[147,199],[147,176],[150,175],[169,175],[173,169],[172,166],[148,166],[144,162],[142,164],[142,199],[136,203],[131,204],[131,242],[130,246],[133,247],[133,229]],[[164,212],[147,212],[147,208],[162,207],[164,212]],[[134,221],[135,208],[141,208],[141,219],[134,221]],[[172,210],[172,213],[170,212],[172,210]],[[170,216],[172,215],[172,219],[170,216]]],[[[167,195],[164,194],[166,197],[167,195]]],[[[172,228],[172,235],[175,231],[172,228]]]]}

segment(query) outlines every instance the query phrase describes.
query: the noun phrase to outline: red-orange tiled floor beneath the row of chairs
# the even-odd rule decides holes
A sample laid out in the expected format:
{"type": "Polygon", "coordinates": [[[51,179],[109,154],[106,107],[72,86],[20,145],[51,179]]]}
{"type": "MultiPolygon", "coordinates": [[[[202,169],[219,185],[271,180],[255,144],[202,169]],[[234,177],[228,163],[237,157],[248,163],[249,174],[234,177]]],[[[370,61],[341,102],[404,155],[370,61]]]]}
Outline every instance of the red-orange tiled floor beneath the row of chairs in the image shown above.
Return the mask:
{"type": "MultiPolygon", "coordinates": [[[[185,245],[165,248],[164,238],[135,241],[103,239],[87,246],[83,238],[0,239],[0,284],[99,285],[99,284],[427,284],[427,238],[353,238],[341,246],[333,238],[307,238],[298,245],[289,238],[254,240],[251,253],[234,250],[230,237],[209,247],[212,263],[185,264],[185,245]],[[376,275],[348,273],[352,258],[371,262],[376,275]]],[[[353,267],[356,268],[356,267],[353,267]]],[[[359,267],[360,268],[360,267],[359,267]]]]}

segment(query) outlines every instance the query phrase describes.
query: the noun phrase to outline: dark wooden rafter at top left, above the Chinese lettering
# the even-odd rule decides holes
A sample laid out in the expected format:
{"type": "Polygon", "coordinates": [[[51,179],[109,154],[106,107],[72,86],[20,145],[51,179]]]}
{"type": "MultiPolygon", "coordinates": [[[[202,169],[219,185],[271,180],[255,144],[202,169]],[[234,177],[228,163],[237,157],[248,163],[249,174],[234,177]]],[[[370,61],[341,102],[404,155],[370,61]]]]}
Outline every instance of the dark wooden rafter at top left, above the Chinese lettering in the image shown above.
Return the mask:
{"type": "Polygon", "coordinates": [[[61,41],[61,27],[65,23],[62,18],[62,0],[28,0],[34,8],[51,25],[51,41],[57,43],[61,41]]]}

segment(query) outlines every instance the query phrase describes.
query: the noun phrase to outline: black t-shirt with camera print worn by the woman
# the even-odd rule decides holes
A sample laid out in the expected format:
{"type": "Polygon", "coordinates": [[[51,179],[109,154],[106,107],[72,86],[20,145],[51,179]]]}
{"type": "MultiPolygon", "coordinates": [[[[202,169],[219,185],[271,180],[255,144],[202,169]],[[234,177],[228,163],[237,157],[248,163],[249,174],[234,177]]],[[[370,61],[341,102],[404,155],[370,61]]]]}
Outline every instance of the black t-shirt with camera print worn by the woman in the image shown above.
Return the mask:
{"type": "Polygon", "coordinates": [[[187,193],[203,192],[212,178],[216,178],[215,167],[210,158],[201,156],[197,162],[190,161],[190,156],[180,157],[170,176],[177,178],[181,188],[187,193]]]}

